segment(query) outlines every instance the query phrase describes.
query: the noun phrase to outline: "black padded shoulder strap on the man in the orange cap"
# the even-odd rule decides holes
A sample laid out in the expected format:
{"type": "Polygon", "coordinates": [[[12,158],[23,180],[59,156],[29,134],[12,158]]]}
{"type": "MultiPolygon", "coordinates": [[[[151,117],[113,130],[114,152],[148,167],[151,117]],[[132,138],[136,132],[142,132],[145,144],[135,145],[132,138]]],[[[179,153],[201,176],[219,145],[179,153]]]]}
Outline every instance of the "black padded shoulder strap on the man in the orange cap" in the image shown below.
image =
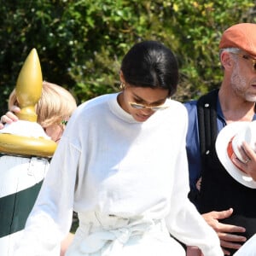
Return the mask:
{"type": "Polygon", "coordinates": [[[197,101],[197,116],[200,138],[201,157],[206,154],[215,143],[217,137],[217,99],[218,89],[201,96],[197,101]]]}

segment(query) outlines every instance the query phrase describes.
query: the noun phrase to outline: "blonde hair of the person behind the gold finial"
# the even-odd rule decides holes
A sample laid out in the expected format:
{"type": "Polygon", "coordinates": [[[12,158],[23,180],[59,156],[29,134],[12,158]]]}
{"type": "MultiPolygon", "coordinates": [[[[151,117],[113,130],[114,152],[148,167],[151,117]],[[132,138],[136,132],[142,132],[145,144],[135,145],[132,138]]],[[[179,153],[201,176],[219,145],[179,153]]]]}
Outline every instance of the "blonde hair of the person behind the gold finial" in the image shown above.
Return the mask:
{"type": "MultiPolygon", "coordinates": [[[[9,109],[14,105],[19,106],[15,90],[9,96],[9,109]]],[[[47,128],[49,125],[61,124],[76,108],[77,103],[68,90],[57,84],[43,82],[42,96],[35,106],[39,125],[47,128]]]]}

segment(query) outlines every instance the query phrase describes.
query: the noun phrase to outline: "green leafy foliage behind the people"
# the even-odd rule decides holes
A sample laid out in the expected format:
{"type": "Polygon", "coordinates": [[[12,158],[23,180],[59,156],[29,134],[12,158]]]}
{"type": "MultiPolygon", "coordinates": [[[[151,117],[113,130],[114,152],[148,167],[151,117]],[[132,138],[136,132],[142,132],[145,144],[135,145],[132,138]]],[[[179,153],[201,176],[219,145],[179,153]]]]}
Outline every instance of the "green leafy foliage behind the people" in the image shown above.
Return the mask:
{"type": "Polygon", "coordinates": [[[44,80],[71,90],[78,103],[119,90],[119,65],[131,45],[159,40],[177,55],[175,98],[218,87],[218,42],[239,22],[255,22],[248,0],[0,0],[0,109],[32,48],[44,80]]]}

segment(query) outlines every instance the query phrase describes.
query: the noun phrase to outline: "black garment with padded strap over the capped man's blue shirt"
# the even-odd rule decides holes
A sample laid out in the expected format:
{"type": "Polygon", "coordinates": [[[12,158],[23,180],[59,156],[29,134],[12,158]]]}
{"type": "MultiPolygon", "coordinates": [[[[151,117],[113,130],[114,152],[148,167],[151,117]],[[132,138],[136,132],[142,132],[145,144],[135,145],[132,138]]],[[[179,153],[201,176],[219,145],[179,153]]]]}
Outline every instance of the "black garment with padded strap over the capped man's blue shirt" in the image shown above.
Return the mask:
{"type": "Polygon", "coordinates": [[[231,217],[220,222],[246,228],[246,233],[241,235],[248,239],[256,233],[256,189],[236,182],[218,160],[215,150],[217,99],[218,90],[213,90],[197,103],[202,165],[198,208],[201,213],[206,213],[232,207],[234,212],[231,217]]]}

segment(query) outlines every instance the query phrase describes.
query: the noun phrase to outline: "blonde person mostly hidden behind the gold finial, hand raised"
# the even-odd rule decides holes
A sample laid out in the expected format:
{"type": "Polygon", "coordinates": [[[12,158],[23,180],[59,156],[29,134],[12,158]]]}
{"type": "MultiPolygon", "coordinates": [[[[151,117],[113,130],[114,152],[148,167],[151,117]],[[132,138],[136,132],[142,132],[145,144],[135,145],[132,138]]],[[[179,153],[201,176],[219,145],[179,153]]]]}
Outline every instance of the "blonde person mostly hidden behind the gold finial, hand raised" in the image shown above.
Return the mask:
{"type": "MultiPolygon", "coordinates": [[[[11,123],[18,120],[15,113],[20,112],[19,102],[15,90],[9,96],[9,112],[4,114],[1,118],[0,129],[3,129],[4,123],[11,123]]],[[[72,94],[57,84],[43,82],[42,96],[35,106],[38,114],[38,124],[44,128],[45,133],[51,137],[55,143],[61,139],[67,120],[77,108],[76,101],[72,94]]],[[[37,195],[34,195],[34,199],[37,195]]],[[[32,202],[33,204],[33,202],[32,202]]],[[[23,224],[20,224],[22,228],[23,224]]],[[[23,226],[24,228],[24,226],[23,226]]],[[[61,242],[61,256],[67,250],[68,245],[73,240],[73,234],[69,233],[67,237],[61,242]]]]}

